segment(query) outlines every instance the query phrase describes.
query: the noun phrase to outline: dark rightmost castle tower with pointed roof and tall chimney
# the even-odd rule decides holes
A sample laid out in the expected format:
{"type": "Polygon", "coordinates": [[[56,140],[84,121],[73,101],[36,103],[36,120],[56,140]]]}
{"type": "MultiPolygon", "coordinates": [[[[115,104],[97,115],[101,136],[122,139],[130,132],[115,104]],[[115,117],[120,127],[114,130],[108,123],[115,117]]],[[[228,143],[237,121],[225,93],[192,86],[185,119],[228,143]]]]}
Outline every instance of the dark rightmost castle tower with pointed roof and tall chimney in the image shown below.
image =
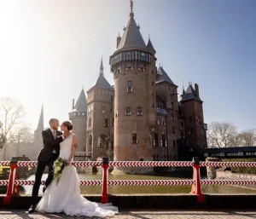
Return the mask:
{"type": "Polygon", "coordinates": [[[188,89],[183,89],[181,100],[189,147],[207,148],[207,124],[204,124],[202,103],[198,84],[194,89],[189,83],[188,89]]]}

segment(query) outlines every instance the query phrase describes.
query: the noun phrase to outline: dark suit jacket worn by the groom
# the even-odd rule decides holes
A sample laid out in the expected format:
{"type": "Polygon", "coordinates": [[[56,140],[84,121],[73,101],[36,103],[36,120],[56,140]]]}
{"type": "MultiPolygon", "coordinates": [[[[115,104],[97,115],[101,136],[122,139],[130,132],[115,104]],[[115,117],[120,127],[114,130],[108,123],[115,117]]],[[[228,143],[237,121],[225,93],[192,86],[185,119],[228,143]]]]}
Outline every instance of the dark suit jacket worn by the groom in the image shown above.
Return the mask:
{"type": "Polygon", "coordinates": [[[43,149],[38,154],[38,161],[42,162],[48,162],[50,160],[55,160],[60,155],[60,143],[63,141],[63,138],[60,136],[62,135],[61,131],[57,130],[57,138],[54,138],[54,135],[52,134],[51,130],[43,130],[42,136],[43,136],[43,142],[44,146],[43,149]],[[56,151],[56,153],[53,153],[53,151],[56,151]]]}

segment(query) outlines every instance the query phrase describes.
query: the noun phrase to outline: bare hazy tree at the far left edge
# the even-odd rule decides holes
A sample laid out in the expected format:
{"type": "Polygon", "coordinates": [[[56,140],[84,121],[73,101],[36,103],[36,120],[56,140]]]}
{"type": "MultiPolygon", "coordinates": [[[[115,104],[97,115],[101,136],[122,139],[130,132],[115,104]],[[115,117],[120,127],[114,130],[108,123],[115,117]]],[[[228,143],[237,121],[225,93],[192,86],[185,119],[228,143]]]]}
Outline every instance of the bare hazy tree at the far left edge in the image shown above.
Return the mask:
{"type": "Polygon", "coordinates": [[[3,160],[6,159],[6,149],[10,142],[15,141],[15,130],[17,130],[21,118],[24,116],[22,105],[10,98],[0,99],[0,113],[2,115],[1,139],[4,141],[3,145],[3,160]]]}

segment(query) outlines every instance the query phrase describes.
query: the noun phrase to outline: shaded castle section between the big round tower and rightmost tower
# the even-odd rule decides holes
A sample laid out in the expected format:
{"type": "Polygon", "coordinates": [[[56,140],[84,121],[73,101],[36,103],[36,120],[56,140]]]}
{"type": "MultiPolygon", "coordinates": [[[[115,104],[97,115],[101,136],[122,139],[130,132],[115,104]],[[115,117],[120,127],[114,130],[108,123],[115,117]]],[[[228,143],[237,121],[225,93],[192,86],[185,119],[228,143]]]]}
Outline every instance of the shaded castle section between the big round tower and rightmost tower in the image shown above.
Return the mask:
{"type": "Polygon", "coordinates": [[[177,139],[180,138],[177,85],[172,82],[163,66],[156,75],[157,135],[154,137],[155,160],[177,160],[177,139]]]}

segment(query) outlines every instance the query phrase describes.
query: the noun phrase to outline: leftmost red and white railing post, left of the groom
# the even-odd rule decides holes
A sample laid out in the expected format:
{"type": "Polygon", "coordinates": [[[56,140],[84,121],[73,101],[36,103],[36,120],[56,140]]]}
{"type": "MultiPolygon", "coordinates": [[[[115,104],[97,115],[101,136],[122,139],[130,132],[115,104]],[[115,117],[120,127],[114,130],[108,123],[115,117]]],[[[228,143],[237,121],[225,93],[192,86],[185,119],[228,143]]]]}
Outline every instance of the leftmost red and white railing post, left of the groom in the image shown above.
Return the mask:
{"type": "Polygon", "coordinates": [[[17,170],[18,170],[18,166],[17,166],[17,159],[13,158],[10,162],[10,172],[9,172],[9,184],[8,184],[8,188],[7,188],[7,193],[5,195],[5,197],[3,198],[3,205],[9,205],[11,198],[13,196],[13,194],[16,192],[19,193],[19,189],[18,186],[15,185],[15,180],[17,180],[17,170]]]}

